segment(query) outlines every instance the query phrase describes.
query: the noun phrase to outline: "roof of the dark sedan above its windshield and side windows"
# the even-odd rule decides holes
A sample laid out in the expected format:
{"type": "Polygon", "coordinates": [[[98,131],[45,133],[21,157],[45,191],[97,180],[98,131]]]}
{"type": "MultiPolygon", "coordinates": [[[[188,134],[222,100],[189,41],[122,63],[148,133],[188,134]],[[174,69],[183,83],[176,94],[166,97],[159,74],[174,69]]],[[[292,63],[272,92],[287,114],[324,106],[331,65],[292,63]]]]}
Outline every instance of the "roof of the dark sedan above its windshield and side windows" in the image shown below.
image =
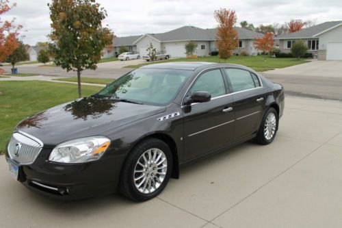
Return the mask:
{"type": "Polygon", "coordinates": [[[248,71],[253,71],[251,68],[242,66],[239,64],[220,64],[217,62],[165,62],[159,64],[149,64],[142,66],[141,68],[165,68],[165,69],[177,69],[177,70],[187,70],[195,71],[197,69],[205,70],[211,67],[238,67],[244,68],[248,71]]]}

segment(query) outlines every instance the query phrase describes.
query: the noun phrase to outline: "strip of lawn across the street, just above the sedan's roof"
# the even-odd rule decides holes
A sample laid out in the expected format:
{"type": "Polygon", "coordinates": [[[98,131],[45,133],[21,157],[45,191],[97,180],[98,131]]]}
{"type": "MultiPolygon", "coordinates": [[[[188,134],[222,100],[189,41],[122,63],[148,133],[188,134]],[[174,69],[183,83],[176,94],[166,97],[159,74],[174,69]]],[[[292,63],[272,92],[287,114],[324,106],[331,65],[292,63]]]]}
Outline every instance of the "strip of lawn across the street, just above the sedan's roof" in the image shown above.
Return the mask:
{"type": "MultiPolygon", "coordinates": [[[[159,62],[222,62],[224,60],[218,58],[218,56],[200,57],[196,59],[179,58],[173,60],[163,60],[157,62],[146,62],[143,64],[125,66],[127,68],[138,68],[140,66],[155,64],[159,62]]],[[[305,60],[297,60],[296,58],[270,58],[268,55],[257,56],[233,56],[226,63],[241,64],[253,68],[255,71],[268,71],[274,68],[284,68],[287,66],[293,66],[297,64],[305,63],[305,60]]]]}

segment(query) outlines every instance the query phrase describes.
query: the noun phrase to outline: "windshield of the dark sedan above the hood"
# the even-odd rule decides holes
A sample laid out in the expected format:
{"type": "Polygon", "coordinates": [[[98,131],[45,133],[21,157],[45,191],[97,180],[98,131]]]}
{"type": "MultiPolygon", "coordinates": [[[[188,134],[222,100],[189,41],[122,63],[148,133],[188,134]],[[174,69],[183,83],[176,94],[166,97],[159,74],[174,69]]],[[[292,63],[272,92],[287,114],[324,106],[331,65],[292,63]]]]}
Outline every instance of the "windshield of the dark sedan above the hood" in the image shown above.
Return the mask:
{"type": "Polygon", "coordinates": [[[191,73],[185,70],[140,68],[120,77],[96,95],[132,103],[166,105],[176,97],[191,73]]]}

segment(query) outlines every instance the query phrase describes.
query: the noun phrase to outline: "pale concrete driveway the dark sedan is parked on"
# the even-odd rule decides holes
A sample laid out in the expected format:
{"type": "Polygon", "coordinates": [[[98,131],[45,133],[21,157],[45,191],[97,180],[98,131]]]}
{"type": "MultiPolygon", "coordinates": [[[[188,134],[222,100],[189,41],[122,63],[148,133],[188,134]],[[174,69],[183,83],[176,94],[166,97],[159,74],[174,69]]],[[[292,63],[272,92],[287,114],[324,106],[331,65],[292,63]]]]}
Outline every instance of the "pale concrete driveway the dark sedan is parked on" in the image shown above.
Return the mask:
{"type": "MultiPolygon", "coordinates": [[[[272,144],[187,166],[157,199],[44,199],[0,157],[0,227],[341,227],[342,102],[286,97],[272,144]]],[[[101,178],[101,177],[99,177],[101,178]]]]}

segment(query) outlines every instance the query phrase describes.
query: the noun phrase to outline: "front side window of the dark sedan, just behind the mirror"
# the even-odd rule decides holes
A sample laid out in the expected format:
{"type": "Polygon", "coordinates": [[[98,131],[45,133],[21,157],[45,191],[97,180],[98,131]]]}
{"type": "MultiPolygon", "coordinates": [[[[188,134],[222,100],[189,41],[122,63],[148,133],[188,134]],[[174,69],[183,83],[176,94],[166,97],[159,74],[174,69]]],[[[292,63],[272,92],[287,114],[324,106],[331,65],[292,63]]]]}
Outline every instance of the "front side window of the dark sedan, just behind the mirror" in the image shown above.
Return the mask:
{"type": "Polygon", "coordinates": [[[191,92],[207,91],[211,94],[211,98],[226,94],[226,87],[220,69],[207,71],[192,86],[191,92]]]}

